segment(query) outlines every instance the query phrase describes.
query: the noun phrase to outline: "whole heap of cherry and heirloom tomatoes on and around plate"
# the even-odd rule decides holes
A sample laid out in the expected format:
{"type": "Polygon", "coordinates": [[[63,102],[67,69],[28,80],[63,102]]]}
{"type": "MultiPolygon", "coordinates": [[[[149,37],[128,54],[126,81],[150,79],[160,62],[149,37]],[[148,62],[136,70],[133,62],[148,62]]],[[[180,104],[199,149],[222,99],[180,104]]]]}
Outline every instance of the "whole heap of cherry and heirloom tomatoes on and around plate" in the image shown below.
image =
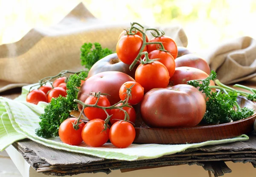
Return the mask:
{"type": "MultiPolygon", "coordinates": [[[[89,146],[99,147],[110,140],[118,148],[128,147],[135,138],[136,112],[132,107],[135,104],[140,105],[141,118],[149,127],[196,126],[206,111],[205,95],[186,82],[205,79],[209,73],[209,65],[204,59],[186,48],[177,47],[170,37],[162,34],[149,40],[143,31],[128,34],[125,30],[119,36],[116,53],[93,65],[78,93],[77,99],[83,103],[97,103],[108,109],[93,106],[83,109],[78,104],[79,111],[83,110],[90,121],[84,124],[82,121],[77,123],[77,118],[69,118],[59,127],[59,136],[64,143],[71,145],[84,141],[89,146]],[[140,61],[129,70],[137,56],[141,56],[140,61]],[[116,59],[119,61],[111,62],[116,59]],[[98,92],[106,95],[91,94],[98,92]],[[129,106],[122,107],[120,100],[126,100],[128,92],[131,94],[126,102],[129,106]],[[125,120],[125,112],[129,120],[125,120]],[[74,125],[78,126],[77,129],[74,125]]],[[[53,89],[43,90],[48,86],[42,86],[32,90],[27,101],[36,103],[38,100],[33,99],[33,95],[37,95],[40,101],[48,102],[58,94],[65,96],[64,89],[60,92],[61,83],[56,82],[58,79],[53,82],[53,89]]],[[[211,84],[214,85],[214,82],[211,84]]]]}

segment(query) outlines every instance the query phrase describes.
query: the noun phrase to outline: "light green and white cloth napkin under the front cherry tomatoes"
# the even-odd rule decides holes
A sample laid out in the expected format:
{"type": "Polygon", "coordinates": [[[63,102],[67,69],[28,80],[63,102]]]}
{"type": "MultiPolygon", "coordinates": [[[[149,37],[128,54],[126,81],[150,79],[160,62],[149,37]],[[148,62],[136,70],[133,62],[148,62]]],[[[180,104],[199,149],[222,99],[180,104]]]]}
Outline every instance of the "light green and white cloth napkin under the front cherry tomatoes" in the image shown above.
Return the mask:
{"type": "Polygon", "coordinates": [[[116,160],[143,160],[183,152],[188,148],[197,148],[207,145],[231,143],[248,140],[247,135],[224,140],[211,140],[202,143],[163,145],[163,144],[131,144],[128,148],[119,149],[111,143],[94,148],[81,143],[79,146],[71,146],[62,143],[59,138],[41,138],[35,135],[35,129],[39,127],[39,116],[44,112],[47,103],[39,102],[38,105],[23,101],[28,93],[29,86],[23,88],[22,95],[17,100],[0,97],[0,151],[17,140],[29,138],[37,143],[55,149],[69,152],[78,152],[106,159],[116,160]],[[24,97],[25,95],[25,97],[24,97]]]}

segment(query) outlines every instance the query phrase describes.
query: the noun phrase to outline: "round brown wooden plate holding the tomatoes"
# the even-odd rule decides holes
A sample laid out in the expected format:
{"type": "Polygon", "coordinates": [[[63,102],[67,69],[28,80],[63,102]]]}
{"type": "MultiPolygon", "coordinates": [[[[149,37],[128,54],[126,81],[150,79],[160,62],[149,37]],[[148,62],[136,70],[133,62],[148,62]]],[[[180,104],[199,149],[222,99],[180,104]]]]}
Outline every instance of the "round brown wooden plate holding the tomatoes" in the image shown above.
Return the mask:
{"type": "MultiPolygon", "coordinates": [[[[249,107],[256,110],[256,103],[244,97],[239,96],[237,102],[241,107],[249,107]]],[[[256,119],[256,111],[254,112],[254,115],[240,121],[190,128],[149,128],[138,115],[136,126],[139,125],[140,127],[135,127],[136,138],[134,143],[180,144],[234,138],[253,130],[253,124],[256,119]]]]}

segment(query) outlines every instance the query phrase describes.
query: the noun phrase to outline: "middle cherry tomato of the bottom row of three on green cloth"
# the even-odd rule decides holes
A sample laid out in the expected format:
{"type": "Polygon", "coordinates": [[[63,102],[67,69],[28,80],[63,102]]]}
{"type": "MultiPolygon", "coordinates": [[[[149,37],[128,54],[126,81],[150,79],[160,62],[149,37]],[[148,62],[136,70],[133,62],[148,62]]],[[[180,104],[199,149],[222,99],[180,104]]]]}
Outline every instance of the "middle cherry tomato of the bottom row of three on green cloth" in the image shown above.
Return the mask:
{"type": "Polygon", "coordinates": [[[92,147],[99,147],[108,141],[109,128],[104,129],[104,121],[102,119],[93,119],[85,124],[82,131],[84,143],[92,147]]]}

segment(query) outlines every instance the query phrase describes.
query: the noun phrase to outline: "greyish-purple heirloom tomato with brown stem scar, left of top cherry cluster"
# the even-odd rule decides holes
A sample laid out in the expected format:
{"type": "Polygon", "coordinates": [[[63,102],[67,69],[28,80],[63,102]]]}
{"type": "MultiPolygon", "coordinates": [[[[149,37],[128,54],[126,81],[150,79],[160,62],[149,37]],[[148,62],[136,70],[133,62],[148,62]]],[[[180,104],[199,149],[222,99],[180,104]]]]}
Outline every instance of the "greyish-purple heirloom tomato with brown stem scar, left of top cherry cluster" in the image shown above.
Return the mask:
{"type": "Polygon", "coordinates": [[[88,78],[105,71],[119,71],[125,74],[128,74],[132,78],[135,76],[135,70],[138,65],[134,67],[133,70],[129,70],[130,65],[127,65],[123,62],[121,62],[118,59],[118,56],[116,53],[112,53],[108,56],[105,56],[103,59],[100,59],[98,62],[96,62],[91,68],[88,73],[88,78]]]}

